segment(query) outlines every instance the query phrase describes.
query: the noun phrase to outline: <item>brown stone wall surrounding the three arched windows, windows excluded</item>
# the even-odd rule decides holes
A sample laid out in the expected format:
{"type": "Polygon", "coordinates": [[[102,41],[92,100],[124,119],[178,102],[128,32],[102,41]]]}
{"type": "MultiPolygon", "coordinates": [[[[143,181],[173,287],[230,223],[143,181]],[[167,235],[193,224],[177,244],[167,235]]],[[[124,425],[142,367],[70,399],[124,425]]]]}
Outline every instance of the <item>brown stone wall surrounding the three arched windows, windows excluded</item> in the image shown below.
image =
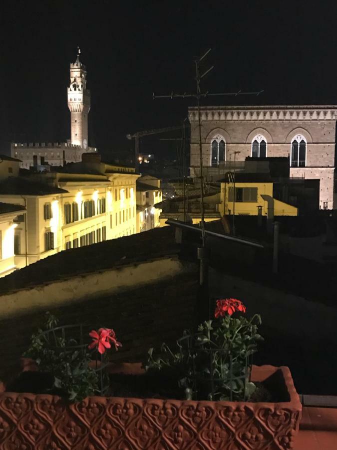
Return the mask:
{"type": "MultiPolygon", "coordinates": [[[[239,151],[238,162],[252,156],[252,141],[257,134],[267,140],[267,156],[274,157],[289,156],[292,139],[302,134],[307,141],[306,168],[291,168],[291,176],[320,178],[320,207],[328,202],[328,208],[333,208],[336,106],[206,107],[201,114],[205,168],[211,166],[211,142],[217,134],[226,141],[226,161],[233,161],[234,151],[239,151]]],[[[191,176],[196,176],[193,167],[199,167],[199,130],[194,108],[190,108],[189,118],[191,176]]]]}

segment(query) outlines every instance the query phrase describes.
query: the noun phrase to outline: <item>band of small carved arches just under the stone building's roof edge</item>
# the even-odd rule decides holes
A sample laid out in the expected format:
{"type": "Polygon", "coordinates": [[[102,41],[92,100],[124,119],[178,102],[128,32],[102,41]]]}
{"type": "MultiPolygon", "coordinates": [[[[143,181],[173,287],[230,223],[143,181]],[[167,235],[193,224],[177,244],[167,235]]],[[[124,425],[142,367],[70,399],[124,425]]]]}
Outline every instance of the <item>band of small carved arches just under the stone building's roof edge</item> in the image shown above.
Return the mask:
{"type": "MultiPolygon", "coordinates": [[[[190,121],[198,120],[198,112],[190,110],[188,113],[190,121]]],[[[222,120],[337,120],[337,111],[334,109],[311,109],[311,110],[206,110],[201,112],[203,121],[222,120]]]]}

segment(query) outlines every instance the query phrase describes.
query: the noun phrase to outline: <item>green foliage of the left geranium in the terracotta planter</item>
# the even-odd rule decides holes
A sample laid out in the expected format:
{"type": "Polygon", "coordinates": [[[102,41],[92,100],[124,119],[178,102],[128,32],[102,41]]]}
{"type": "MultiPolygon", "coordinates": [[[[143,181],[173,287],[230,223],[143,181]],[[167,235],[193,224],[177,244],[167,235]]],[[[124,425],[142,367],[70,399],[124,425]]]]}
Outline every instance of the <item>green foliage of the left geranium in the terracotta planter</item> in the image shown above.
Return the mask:
{"type": "Polygon", "coordinates": [[[31,344],[23,354],[34,359],[40,370],[54,376],[53,388],[60,389],[70,401],[80,401],[98,390],[98,376],[89,367],[91,360],[86,347],[75,339],[58,337],[54,327],[58,320],[46,313],[45,329],[31,336],[31,344]]]}

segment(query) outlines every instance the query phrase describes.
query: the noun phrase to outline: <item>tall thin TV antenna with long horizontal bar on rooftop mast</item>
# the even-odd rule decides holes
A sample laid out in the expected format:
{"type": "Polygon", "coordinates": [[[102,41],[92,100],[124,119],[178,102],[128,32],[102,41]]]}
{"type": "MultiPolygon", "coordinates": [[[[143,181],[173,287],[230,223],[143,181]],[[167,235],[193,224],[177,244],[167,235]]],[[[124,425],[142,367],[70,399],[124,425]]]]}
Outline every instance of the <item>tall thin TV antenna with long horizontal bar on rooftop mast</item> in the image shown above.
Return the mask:
{"type": "MultiPolygon", "coordinates": [[[[195,81],[196,81],[196,92],[194,93],[175,93],[173,90],[171,91],[171,94],[169,95],[155,95],[153,93],[153,99],[156,98],[189,98],[194,97],[197,99],[197,109],[198,109],[198,125],[199,125],[199,157],[200,157],[200,206],[201,206],[201,238],[202,238],[202,247],[203,249],[200,249],[200,265],[203,266],[203,260],[206,258],[205,256],[205,241],[206,241],[206,233],[205,233],[205,214],[204,214],[204,175],[203,175],[203,157],[202,157],[202,142],[201,142],[201,118],[200,118],[200,99],[202,97],[208,97],[208,96],[225,96],[225,95],[260,95],[263,90],[259,90],[257,92],[243,92],[242,90],[238,90],[237,92],[209,92],[204,91],[202,92],[200,89],[200,81],[204,76],[206,76],[211,70],[213,70],[214,65],[206,69],[202,74],[200,74],[200,63],[205,57],[208,55],[208,53],[211,51],[211,48],[205,51],[205,53],[200,57],[193,58],[194,64],[195,64],[195,81]]],[[[201,267],[200,267],[201,269],[201,267]]],[[[200,270],[200,284],[202,285],[205,281],[203,273],[206,273],[206,270],[200,270]]]]}

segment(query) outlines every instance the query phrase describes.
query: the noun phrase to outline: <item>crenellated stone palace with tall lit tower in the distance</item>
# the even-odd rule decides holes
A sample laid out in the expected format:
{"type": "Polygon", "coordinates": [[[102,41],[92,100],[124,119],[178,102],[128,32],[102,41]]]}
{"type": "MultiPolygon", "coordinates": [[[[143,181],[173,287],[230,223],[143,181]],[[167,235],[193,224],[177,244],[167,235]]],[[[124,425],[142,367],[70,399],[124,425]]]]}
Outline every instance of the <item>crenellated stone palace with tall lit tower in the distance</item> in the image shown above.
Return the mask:
{"type": "Polygon", "coordinates": [[[79,60],[70,63],[70,83],[68,107],[70,109],[71,139],[66,142],[12,142],[10,154],[19,158],[20,168],[31,166],[42,170],[45,165],[61,166],[67,162],[80,162],[83,153],[97,152],[88,147],[88,112],[90,110],[90,91],[86,88],[86,68],[79,60]]]}

